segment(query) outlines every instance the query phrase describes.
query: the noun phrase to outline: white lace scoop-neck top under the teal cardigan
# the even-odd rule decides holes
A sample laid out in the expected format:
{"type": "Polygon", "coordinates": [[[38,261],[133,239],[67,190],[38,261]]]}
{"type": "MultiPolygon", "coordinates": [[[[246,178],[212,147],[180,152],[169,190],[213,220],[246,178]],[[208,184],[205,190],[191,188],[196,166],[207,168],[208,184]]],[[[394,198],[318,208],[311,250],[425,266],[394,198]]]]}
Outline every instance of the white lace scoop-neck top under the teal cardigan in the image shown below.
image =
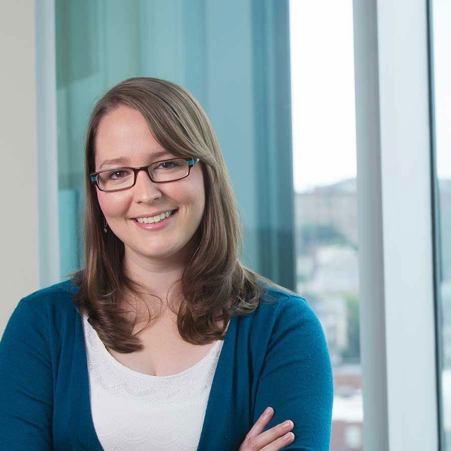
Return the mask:
{"type": "Polygon", "coordinates": [[[217,360],[218,340],[187,370],[151,376],[118,362],[83,315],[94,428],[105,451],[195,451],[217,360]]]}

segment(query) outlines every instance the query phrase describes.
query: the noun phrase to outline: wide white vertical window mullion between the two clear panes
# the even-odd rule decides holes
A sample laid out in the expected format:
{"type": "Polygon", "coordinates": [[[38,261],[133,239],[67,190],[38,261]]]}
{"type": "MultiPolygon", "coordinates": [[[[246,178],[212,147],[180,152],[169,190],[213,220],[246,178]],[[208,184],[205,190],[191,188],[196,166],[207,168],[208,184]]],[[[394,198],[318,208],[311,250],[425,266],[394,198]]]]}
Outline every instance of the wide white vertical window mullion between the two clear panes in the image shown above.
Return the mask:
{"type": "Polygon", "coordinates": [[[437,449],[426,4],[354,0],[365,451],[437,449]]]}

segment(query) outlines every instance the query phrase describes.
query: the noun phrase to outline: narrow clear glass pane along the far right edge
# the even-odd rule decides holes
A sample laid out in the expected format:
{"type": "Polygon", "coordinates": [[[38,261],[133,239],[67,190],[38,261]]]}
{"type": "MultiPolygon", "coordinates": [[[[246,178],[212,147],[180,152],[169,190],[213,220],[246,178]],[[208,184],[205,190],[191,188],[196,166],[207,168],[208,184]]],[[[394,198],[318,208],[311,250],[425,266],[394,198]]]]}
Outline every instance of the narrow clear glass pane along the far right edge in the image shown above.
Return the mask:
{"type": "Polygon", "coordinates": [[[442,450],[451,451],[451,3],[433,0],[435,231],[442,450]]]}

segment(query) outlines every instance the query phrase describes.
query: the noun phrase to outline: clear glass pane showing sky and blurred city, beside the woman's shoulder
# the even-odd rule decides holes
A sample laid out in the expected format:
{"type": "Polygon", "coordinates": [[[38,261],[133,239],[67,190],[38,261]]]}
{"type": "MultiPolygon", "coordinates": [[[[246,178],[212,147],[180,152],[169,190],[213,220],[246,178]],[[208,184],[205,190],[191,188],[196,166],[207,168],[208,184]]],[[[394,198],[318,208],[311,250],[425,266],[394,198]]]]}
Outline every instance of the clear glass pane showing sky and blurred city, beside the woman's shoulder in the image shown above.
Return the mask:
{"type": "Polygon", "coordinates": [[[296,291],[318,315],[331,355],[330,449],[361,450],[352,1],[292,0],[290,40],[296,291]]]}

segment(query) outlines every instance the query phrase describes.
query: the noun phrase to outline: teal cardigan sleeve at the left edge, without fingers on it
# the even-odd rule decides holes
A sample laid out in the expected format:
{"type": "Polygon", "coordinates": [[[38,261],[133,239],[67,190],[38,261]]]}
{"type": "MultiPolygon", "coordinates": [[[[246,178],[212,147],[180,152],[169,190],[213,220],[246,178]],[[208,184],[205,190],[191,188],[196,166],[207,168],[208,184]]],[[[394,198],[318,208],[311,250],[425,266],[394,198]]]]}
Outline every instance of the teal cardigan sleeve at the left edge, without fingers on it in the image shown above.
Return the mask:
{"type": "Polygon", "coordinates": [[[53,379],[48,317],[22,299],[0,341],[0,443],[9,451],[50,451],[53,379]]]}

